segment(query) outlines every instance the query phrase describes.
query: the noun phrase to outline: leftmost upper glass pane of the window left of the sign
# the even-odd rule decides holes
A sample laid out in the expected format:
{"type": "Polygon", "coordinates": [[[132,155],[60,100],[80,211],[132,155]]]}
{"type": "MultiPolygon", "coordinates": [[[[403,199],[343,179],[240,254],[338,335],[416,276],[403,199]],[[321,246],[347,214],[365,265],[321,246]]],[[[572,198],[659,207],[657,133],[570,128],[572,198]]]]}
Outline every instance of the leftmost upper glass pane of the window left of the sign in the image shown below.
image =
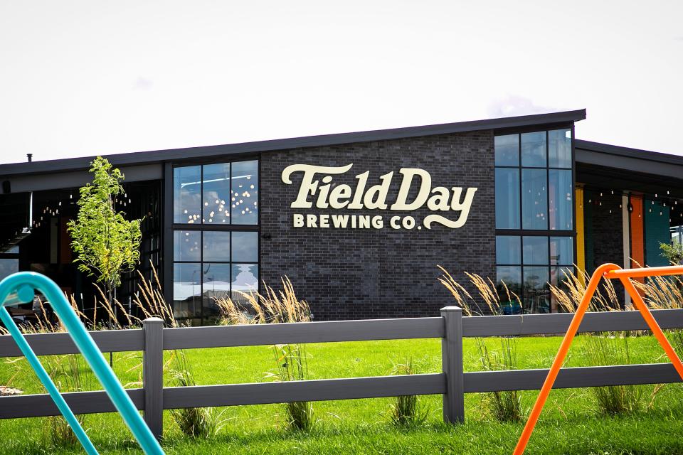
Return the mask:
{"type": "Polygon", "coordinates": [[[173,222],[201,223],[201,166],[174,168],[173,222]]]}

